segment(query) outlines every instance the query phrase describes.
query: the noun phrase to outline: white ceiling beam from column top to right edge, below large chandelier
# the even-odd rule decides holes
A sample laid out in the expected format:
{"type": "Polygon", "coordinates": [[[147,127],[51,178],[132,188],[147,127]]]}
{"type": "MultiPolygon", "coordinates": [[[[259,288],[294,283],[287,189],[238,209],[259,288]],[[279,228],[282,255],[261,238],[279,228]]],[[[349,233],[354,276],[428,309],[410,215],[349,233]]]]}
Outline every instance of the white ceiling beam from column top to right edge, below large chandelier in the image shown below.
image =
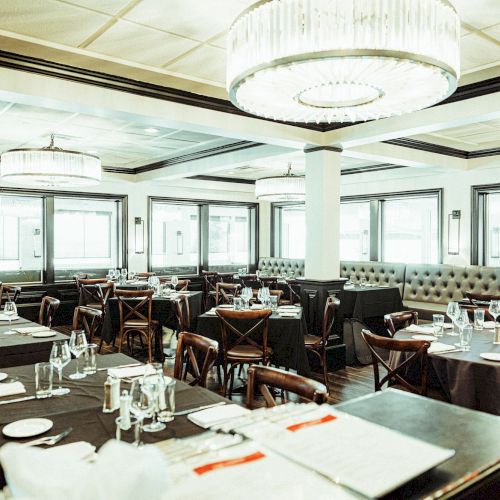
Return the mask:
{"type": "Polygon", "coordinates": [[[374,142],[500,118],[500,92],[326,132],[324,146],[350,149],[374,142]]]}

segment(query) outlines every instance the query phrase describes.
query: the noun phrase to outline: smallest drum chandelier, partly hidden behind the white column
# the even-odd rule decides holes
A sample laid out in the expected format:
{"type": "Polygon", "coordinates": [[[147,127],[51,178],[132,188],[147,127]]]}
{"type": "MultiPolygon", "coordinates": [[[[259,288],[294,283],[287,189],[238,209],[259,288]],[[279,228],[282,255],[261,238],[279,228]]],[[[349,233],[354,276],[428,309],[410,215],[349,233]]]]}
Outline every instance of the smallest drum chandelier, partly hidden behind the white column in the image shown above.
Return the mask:
{"type": "Polygon", "coordinates": [[[255,181],[255,196],[264,201],[304,201],[305,177],[292,174],[292,164],[289,163],[286,174],[255,181]]]}

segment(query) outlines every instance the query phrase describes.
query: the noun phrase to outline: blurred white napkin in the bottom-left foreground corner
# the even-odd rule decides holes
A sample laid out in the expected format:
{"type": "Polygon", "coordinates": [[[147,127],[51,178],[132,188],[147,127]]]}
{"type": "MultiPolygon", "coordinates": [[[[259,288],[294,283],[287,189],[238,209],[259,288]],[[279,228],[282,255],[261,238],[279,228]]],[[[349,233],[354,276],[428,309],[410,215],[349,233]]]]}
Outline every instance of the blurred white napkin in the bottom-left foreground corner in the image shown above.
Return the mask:
{"type": "Polygon", "coordinates": [[[110,440],[93,463],[81,460],[82,449],[70,447],[57,453],[18,443],[4,445],[0,462],[12,498],[160,500],[168,490],[166,462],[155,446],[136,448],[110,440]]]}

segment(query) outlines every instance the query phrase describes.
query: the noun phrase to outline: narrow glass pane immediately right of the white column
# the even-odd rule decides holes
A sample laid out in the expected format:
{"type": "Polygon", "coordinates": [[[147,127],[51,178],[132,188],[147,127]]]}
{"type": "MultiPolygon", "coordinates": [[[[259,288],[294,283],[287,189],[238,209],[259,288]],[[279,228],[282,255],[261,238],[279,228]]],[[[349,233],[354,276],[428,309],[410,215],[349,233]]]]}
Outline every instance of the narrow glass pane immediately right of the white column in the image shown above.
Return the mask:
{"type": "Polygon", "coordinates": [[[370,202],[340,205],[340,258],[370,260],[370,202]]]}

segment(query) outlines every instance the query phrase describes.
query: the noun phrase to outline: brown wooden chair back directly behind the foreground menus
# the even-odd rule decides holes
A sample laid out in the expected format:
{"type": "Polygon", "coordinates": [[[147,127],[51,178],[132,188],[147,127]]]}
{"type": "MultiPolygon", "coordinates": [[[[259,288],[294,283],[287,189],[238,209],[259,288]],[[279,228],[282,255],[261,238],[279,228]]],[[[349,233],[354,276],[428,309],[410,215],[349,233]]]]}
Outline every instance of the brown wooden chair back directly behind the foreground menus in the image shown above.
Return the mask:
{"type": "MultiPolygon", "coordinates": [[[[317,404],[326,403],[328,396],[328,389],[316,380],[270,366],[252,365],[248,369],[247,407],[255,407],[256,389],[264,396],[268,408],[277,406],[269,387],[280,389],[282,394],[284,391],[293,392],[317,404]]],[[[282,403],[286,403],[284,397],[282,403]]]]}

